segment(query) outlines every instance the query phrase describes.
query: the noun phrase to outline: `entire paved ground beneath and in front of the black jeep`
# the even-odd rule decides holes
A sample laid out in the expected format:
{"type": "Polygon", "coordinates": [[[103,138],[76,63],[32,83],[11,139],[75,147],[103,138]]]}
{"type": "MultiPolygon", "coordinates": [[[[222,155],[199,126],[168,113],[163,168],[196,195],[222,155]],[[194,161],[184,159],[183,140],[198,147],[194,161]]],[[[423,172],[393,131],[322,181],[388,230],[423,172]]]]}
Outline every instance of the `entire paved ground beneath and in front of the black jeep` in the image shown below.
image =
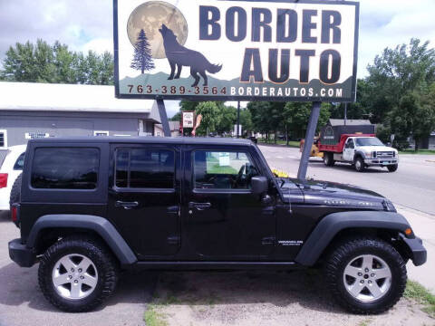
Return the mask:
{"type": "Polygon", "coordinates": [[[433,325],[420,305],[406,299],[379,316],[348,314],[314,270],[124,273],[115,294],[95,312],[60,312],[39,290],[37,265],[20,268],[9,259],[7,242],[18,236],[0,212],[0,326],[144,325],[147,307],[174,326],[433,325]]]}

